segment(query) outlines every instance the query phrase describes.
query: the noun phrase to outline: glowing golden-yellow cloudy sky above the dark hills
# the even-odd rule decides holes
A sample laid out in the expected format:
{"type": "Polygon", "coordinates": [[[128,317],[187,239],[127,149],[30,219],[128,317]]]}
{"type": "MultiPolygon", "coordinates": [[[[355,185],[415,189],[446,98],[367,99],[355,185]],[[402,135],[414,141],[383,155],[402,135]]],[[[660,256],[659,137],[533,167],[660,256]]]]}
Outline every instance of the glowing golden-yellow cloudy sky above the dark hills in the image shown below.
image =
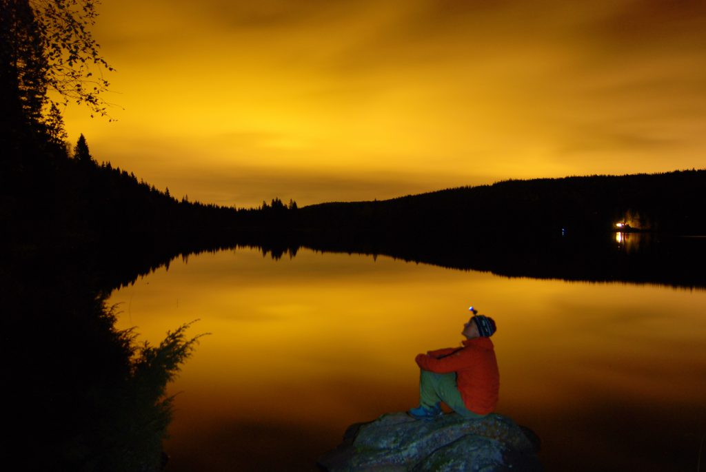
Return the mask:
{"type": "Polygon", "coordinates": [[[103,0],[100,162],[238,207],[706,167],[703,0],[103,0]]]}

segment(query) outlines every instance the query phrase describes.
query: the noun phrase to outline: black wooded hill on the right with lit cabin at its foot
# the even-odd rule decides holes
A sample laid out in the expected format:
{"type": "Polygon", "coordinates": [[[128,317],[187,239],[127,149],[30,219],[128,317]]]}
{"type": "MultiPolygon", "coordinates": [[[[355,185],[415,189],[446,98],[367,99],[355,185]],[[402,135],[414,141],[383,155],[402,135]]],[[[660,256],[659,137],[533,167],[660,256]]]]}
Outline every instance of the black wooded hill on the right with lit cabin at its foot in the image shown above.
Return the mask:
{"type": "Polygon", "coordinates": [[[503,181],[391,200],[301,208],[299,231],[374,231],[450,240],[526,240],[616,231],[706,234],[706,171],[503,181]]]}

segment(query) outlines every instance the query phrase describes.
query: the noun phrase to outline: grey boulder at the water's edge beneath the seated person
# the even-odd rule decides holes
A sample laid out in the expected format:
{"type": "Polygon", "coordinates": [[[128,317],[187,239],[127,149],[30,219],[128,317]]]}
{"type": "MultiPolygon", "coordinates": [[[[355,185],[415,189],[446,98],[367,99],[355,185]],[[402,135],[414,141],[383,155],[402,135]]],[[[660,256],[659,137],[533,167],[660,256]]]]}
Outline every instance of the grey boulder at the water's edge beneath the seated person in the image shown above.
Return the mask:
{"type": "Polygon", "coordinates": [[[351,425],[318,466],[328,472],[539,472],[538,449],[537,435],[496,413],[478,420],[448,413],[431,421],[386,413],[351,425]]]}

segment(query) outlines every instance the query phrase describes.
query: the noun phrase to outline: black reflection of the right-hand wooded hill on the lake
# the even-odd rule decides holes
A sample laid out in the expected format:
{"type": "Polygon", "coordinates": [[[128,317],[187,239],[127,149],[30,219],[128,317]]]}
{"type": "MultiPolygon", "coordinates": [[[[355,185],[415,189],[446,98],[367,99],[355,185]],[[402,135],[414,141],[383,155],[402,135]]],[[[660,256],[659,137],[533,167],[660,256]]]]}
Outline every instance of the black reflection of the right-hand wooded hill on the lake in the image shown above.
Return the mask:
{"type": "Polygon", "coordinates": [[[297,238],[273,237],[272,241],[263,243],[263,254],[275,259],[286,254],[294,257],[299,248],[305,247],[373,255],[373,258],[385,254],[406,261],[489,271],[508,277],[706,288],[706,271],[694,263],[706,260],[704,238],[637,231],[593,236],[558,235],[557,232],[552,237],[534,235],[530,238],[525,234],[521,243],[510,237],[462,241],[459,234],[443,243],[375,238],[365,234],[343,241],[306,244],[297,238]]]}

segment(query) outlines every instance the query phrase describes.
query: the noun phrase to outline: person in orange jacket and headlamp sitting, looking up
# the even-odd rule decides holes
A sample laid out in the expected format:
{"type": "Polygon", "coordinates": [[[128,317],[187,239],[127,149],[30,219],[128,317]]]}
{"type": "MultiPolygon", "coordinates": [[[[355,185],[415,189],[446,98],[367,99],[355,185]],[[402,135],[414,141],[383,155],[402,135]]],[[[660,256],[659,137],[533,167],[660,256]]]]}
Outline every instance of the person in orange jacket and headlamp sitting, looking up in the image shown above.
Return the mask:
{"type": "Polygon", "coordinates": [[[446,348],[418,354],[419,406],[409,415],[433,420],[443,415],[441,402],[464,418],[482,418],[498,404],[500,375],[490,337],[496,330],[491,317],[473,316],[463,325],[462,348],[446,348]]]}

